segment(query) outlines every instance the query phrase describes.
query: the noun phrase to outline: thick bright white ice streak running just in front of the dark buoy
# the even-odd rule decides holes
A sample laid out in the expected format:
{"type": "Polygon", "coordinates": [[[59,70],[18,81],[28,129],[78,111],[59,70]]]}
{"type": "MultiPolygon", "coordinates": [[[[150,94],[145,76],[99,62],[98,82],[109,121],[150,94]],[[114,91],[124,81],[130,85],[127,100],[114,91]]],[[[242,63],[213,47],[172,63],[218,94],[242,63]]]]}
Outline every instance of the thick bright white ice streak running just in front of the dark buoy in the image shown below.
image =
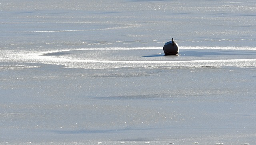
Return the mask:
{"type": "Polygon", "coordinates": [[[256,67],[256,59],[229,59],[229,60],[181,60],[181,61],[158,61],[158,60],[82,60],[72,58],[58,58],[52,56],[30,57],[35,62],[46,64],[60,64],[65,68],[86,69],[109,69],[123,67],[256,67]]]}

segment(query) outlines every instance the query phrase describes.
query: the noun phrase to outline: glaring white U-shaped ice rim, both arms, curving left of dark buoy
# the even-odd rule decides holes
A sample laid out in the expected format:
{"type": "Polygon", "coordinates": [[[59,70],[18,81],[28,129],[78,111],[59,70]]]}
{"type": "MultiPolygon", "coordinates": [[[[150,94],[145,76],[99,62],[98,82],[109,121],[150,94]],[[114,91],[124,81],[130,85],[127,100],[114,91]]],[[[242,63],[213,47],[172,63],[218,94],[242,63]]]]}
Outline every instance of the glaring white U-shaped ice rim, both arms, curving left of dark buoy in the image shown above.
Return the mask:
{"type": "MultiPolygon", "coordinates": [[[[190,47],[192,48],[192,47],[190,47]]],[[[204,48],[204,47],[203,47],[204,48]]],[[[77,50],[98,50],[99,48],[84,48],[77,50]]],[[[155,47],[145,48],[100,48],[102,50],[131,50],[131,49],[159,49],[155,47]]],[[[209,48],[210,49],[210,48],[209,48]]],[[[239,48],[240,49],[240,48],[239,48]]],[[[254,48],[255,49],[255,48],[254,48]]],[[[61,52],[63,52],[62,50],[61,52]]],[[[69,50],[66,50],[69,51],[69,50]]],[[[72,50],[71,50],[72,51],[72,50]]],[[[73,50],[74,51],[74,50],[73,50]]],[[[256,67],[256,59],[216,59],[216,60],[109,60],[105,58],[73,58],[69,55],[49,56],[53,52],[16,52],[3,51],[0,62],[26,62],[26,63],[43,63],[43,64],[60,64],[65,68],[86,68],[86,69],[110,69],[122,67],[219,67],[219,66],[236,66],[236,67],[256,67]]],[[[163,56],[164,57],[164,56],[163,56]]]]}

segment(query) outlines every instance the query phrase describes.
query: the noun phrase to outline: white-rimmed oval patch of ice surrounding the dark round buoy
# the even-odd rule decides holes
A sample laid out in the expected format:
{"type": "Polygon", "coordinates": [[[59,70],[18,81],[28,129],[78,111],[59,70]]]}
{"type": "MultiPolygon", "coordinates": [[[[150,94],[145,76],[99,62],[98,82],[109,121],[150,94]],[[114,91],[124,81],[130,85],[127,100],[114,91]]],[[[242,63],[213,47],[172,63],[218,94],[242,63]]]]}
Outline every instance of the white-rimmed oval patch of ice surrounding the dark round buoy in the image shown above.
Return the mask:
{"type": "MultiPolygon", "coordinates": [[[[85,48],[52,52],[10,52],[6,62],[60,64],[66,68],[256,66],[256,48],[183,47],[178,56],[162,48],[85,48]]],[[[4,53],[2,53],[4,54],[4,53]]],[[[5,55],[5,54],[4,54],[5,55]]]]}

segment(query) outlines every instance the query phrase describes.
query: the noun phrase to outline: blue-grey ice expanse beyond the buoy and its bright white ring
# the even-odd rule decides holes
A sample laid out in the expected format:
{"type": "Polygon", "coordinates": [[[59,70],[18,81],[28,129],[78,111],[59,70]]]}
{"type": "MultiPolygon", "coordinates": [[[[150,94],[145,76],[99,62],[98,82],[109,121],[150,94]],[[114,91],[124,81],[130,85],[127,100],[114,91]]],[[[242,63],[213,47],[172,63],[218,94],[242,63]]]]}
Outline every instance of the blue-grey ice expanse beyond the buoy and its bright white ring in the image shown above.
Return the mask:
{"type": "Polygon", "coordinates": [[[2,44],[14,48],[255,46],[255,2],[1,3],[2,44]],[[17,46],[18,45],[18,46],[17,46]],[[9,46],[11,47],[11,46],[9,46]]]}

